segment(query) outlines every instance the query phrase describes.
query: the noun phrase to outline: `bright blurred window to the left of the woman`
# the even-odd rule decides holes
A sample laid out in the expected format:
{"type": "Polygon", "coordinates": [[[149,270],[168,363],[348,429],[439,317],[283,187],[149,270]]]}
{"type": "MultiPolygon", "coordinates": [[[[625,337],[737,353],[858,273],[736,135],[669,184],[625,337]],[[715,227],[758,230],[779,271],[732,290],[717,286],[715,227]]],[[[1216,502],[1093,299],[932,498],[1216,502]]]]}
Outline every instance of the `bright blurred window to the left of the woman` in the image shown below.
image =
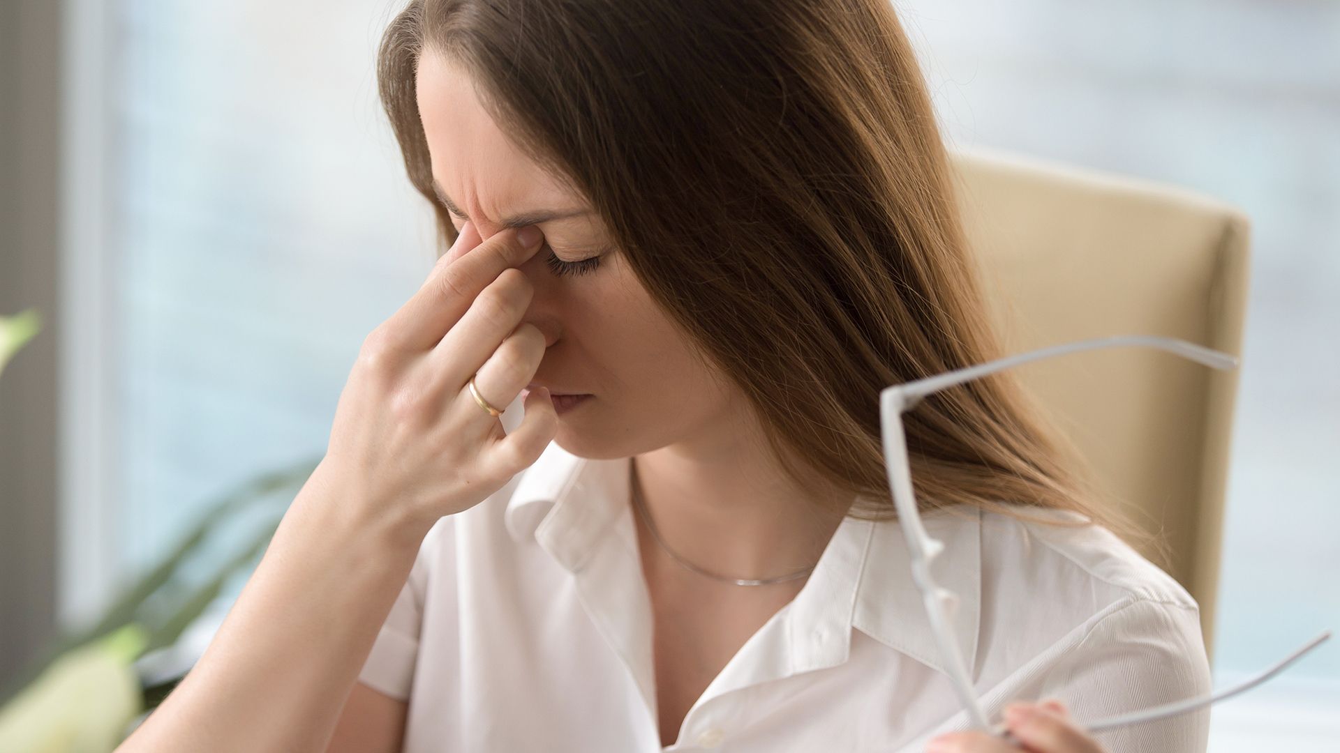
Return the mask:
{"type": "MultiPolygon", "coordinates": [[[[387,0],[106,9],[102,575],[149,567],[221,493],[326,449],[363,338],[431,265],[377,99],[387,0]]],[[[105,598],[105,596],[103,596],[105,598]]],[[[91,606],[84,607],[91,608],[91,606]]]]}

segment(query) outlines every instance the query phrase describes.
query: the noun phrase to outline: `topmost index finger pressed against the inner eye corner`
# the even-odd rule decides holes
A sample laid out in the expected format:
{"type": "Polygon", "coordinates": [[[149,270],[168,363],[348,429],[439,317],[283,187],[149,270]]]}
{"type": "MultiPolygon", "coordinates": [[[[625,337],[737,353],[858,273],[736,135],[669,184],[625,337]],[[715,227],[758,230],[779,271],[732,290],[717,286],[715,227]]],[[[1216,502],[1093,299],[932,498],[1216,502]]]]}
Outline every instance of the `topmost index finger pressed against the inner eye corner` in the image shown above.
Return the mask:
{"type": "Polygon", "coordinates": [[[521,243],[520,230],[504,230],[470,247],[478,234],[473,229],[462,232],[423,285],[386,322],[386,343],[417,351],[436,346],[504,269],[519,267],[535,255],[543,233],[533,229],[531,245],[521,243]]]}

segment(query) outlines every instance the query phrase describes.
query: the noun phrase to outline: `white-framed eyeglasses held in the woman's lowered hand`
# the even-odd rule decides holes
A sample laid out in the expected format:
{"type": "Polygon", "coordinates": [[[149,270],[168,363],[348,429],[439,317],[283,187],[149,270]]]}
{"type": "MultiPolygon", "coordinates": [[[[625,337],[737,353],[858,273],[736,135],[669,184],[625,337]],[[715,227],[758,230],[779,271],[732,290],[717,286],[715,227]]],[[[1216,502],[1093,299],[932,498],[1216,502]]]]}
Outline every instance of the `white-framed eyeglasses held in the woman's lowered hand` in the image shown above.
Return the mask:
{"type": "MultiPolygon", "coordinates": [[[[894,506],[898,509],[899,524],[907,539],[907,551],[911,556],[913,580],[917,584],[917,590],[921,591],[922,602],[926,606],[926,616],[930,620],[931,631],[935,634],[935,642],[939,646],[939,653],[945,659],[946,673],[949,674],[950,682],[954,685],[954,693],[958,695],[959,703],[962,703],[966,710],[969,721],[978,730],[1012,740],[1004,725],[993,728],[986,721],[986,714],[982,711],[977,694],[973,691],[973,683],[967,677],[967,667],[963,661],[963,655],[959,653],[953,627],[950,627],[951,623],[949,619],[949,611],[957,606],[958,596],[953,591],[938,586],[930,571],[931,560],[934,560],[935,556],[945,549],[945,544],[939,540],[931,539],[926,533],[926,528],[922,525],[921,512],[917,509],[917,498],[913,496],[911,464],[907,457],[907,434],[903,430],[903,413],[914,409],[917,403],[927,395],[965,382],[972,382],[973,379],[996,374],[997,371],[1012,368],[1014,366],[1073,352],[1128,346],[1143,346],[1163,350],[1174,355],[1195,360],[1211,368],[1234,368],[1238,364],[1238,360],[1229,354],[1205,348],[1175,338],[1099,338],[1034,350],[977,366],[969,366],[966,368],[946,371],[945,374],[937,374],[915,382],[894,385],[879,393],[879,414],[884,439],[884,464],[888,469],[888,486],[890,492],[892,492],[894,506]]],[[[1120,714],[1093,721],[1079,721],[1076,724],[1088,732],[1100,732],[1193,711],[1202,706],[1207,706],[1256,687],[1257,685],[1284,671],[1285,667],[1296,662],[1308,651],[1316,648],[1328,638],[1331,638],[1331,631],[1325,630],[1256,677],[1207,695],[1175,701],[1162,706],[1152,706],[1130,714],[1120,714]]]]}

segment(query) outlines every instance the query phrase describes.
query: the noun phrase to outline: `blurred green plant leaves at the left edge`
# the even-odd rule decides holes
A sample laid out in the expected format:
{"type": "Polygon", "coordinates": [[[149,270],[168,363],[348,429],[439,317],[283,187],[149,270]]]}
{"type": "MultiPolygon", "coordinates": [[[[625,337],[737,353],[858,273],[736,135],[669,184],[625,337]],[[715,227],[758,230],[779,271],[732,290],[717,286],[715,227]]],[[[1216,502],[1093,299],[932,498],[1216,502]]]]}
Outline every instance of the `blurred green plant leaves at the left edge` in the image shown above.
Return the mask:
{"type": "MultiPolygon", "coordinates": [[[[0,371],[39,330],[34,310],[0,318],[0,371]]],[[[177,547],[123,588],[99,618],[58,635],[0,693],[0,752],[107,753],[119,745],[131,722],[157,707],[189,670],[145,682],[137,661],[173,646],[233,576],[255,565],[291,494],[319,461],[308,458],[263,473],[214,500],[177,547]],[[222,561],[206,563],[212,567],[205,577],[190,584],[185,565],[202,559],[210,533],[253,515],[267,501],[272,505],[261,510],[264,524],[222,561]]]]}

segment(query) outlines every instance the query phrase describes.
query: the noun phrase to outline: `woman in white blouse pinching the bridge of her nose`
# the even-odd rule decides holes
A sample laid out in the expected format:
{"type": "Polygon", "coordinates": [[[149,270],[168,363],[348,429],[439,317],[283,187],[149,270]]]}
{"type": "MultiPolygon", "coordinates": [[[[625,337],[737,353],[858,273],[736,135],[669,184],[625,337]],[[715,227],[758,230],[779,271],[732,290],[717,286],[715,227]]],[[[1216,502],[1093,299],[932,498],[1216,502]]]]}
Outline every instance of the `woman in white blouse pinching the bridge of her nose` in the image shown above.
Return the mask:
{"type": "MultiPolygon", "coordinates": [[[[887,1],[414,0],[379,78],[448,249],[126,749],[922,750],[966,729],[876,409],[1000,352],[887,1]]],[[[988,713],[1207,690],[1195,603],[1012,382],[925,401],[907,435],[988,713]]],[[[1100,742],[1203,750],[1206,722],[1100,742]]]]}

